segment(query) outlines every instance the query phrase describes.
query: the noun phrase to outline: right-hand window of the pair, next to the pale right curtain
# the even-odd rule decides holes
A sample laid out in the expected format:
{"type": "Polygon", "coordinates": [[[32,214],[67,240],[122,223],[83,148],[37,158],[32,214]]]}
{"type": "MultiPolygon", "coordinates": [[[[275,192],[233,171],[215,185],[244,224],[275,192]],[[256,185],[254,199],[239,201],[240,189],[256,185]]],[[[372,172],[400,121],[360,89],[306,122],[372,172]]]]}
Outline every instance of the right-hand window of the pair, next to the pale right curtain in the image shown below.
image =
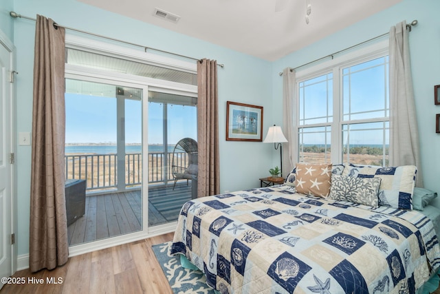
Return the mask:
{"type": "Polygon", "coordinates": [[[388,56],[342,69],[344,162],[388,165],[388,56]]]}

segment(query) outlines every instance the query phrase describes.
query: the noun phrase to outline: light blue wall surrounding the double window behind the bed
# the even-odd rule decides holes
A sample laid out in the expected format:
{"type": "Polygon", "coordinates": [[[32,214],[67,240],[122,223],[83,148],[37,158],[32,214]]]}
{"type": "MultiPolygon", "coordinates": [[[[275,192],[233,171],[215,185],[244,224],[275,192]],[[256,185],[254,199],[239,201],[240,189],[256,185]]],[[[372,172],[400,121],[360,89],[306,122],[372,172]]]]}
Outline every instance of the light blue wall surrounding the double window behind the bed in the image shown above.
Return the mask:
{"type": "MultiPolygon", "coordinates": [[[[405,0],[380,13],[340,30],[331,36],[309,45],[303,50],[285,56],[273,63],[272,89],[275,105],[282,105],[283,78],[278,72],[285,67],[296,67],[322,56],[338,52],[362,41],[380,36],[392,25],[417,19],[419,24],[410,32],[410,56],[419,136],[421,141],[421,171],[425,187],[440,193],[440,135],[435,133],[434,85],[440,84],[440,1],[405,0]]],[[[310,23],[312,25],[313,23],[310,23]]],[[[274,109],[274,117],[278,116],[274,109]]],[[[440,198],[436,206],[440,207],[440,198]]]]}

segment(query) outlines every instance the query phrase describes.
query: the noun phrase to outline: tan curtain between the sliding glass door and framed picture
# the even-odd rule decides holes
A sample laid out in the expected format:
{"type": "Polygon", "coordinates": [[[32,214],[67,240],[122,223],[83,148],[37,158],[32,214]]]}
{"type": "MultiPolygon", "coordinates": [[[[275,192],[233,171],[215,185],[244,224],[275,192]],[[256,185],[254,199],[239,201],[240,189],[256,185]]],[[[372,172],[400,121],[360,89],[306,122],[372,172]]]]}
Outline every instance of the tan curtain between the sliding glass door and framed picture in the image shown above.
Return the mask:
{"type": "Polygon", "coordinates": [[[197,196],[203,197],[220,193],[217,61],[203,59],[197,62],[197,85],[197,196]]]}

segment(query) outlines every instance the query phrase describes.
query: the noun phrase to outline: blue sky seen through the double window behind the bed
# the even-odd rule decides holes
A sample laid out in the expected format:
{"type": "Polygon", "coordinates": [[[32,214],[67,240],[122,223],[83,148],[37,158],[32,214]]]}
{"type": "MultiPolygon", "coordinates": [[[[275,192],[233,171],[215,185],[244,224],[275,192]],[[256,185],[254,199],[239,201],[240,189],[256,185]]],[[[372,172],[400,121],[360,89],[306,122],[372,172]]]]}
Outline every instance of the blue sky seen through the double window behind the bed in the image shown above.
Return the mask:
{"type": "MultiPolygon", "coordinates": [[[[338,89],[343,97],[342,121],[358,120],[347,125],[342,123],[344,145],[382,145],[388,144],[388,127],[386,123],[372,123],[368,120],[384,118],[389,112],[388,96],[388,57],[380,57],[344,67],[342,85],[338,89]],[[384,110],[386,109],[386,111],[384,110]],[[364,121],[362,121],[364,120],[364,121]],[[349,136],[347,136],[349,134],[349,136]]],[[[300,83],[300,125],[327,124],[338,121],[333,117],[333,74],[323,74],[300,83]],[[326,107],[327,105],[327,107],[326,107]]],[[[303,143],[306,145],[330,144],[331,128],[305,128],[303,143]]]]}

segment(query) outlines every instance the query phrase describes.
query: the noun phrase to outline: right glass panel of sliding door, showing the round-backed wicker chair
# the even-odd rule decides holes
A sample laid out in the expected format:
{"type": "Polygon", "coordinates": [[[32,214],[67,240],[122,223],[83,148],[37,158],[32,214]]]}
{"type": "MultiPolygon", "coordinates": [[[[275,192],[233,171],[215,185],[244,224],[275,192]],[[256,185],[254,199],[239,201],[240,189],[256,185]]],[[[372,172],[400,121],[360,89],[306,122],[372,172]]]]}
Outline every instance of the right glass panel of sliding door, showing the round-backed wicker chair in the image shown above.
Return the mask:
{"type": "Polygon", "coordinates": [[[148,92],[148,226],[174,222],[197,193],[197,98],[148,92]]]}

